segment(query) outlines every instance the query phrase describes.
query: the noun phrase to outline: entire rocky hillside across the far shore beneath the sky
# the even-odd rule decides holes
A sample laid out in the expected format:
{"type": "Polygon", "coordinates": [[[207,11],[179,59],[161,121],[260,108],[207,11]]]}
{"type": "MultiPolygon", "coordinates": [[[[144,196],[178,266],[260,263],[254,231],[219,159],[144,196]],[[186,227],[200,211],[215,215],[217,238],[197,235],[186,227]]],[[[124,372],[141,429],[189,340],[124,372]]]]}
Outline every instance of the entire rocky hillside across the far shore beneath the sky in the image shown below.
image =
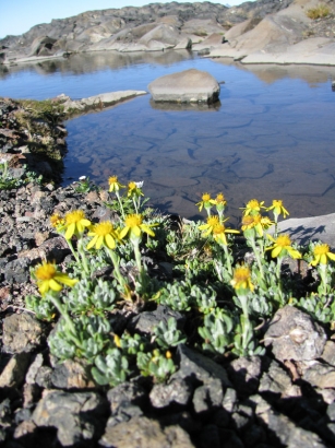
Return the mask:
{"type": "Polygon", "coordinates": [[[256,0],[227,8],[211,2],[171,2],[88,11],[36,25],[22,36],[7,36],[0,40],[0,63],[82,51],[192,48],[243,63],[335,64],[334,3],[256,0]],[[309,17],[308,11],[320,4],[326,8],[326,15],[309,17]]]}

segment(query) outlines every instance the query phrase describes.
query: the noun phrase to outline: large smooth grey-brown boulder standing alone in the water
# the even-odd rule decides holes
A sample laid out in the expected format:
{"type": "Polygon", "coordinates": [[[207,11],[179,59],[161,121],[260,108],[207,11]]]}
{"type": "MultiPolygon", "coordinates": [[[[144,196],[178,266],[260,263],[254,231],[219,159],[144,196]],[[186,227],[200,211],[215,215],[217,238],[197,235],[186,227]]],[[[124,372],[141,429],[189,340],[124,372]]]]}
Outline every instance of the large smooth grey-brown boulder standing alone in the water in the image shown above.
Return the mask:
{"type": "Polygon", "coordinates": [[[158,78],[148,85],[155,102],[215,103],[219,84],[212,74],[190,69],[158,78]]]}

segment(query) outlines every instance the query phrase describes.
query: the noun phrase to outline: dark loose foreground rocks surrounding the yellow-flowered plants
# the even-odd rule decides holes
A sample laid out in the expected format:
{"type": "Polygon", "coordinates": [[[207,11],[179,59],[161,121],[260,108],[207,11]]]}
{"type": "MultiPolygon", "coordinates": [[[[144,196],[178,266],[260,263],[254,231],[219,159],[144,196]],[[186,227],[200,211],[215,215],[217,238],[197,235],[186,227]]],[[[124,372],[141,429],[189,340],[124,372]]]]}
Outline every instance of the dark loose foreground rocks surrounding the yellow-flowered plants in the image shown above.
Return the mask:
{"type": "MultiPolygon", "coordinates": [[[[264,326],[265,355],[213,356],[180,343],[175,353],[177,370],[163,382],[140,375],[112,388],[98,386],[83,359],[59,363],[50,354],[47,340],[55,322],[36,319],[25,305],[25,297],[37,293],[31,267],[44,259],[65,267],[71,260],[49,216],[81,209],[92,222],[101,222],[112,219],[113,212],[106,207],[107,191],[83,192],[80,184],[57,187],[52,161],[43,160],[38,150],[49,145],[60,156],[65,153],[60,109],[50,116],[45,106],[32,117],[31,108],[25,115],[17,102],[5,99],[0,106],[1,157],[11,158],[10,175],[23,181],[0,193],[3,446],[334,446],[332,332],[291,306],[279,309],[272,325],[264,326]],[[32,123],[26,127],[23,118],[38,129],[32,129],[32,123]],[[23,163],[45,180],[26,181],[23,163]]],[[[171,260],[153,259],[152,263],[154,275],[164,272],[169,278],[171,260]]],[[[291,269],[306,274],[306,266],[291,269]]],[[[117,320],[122,328],[136,328],[153,338],[153,322],[171,315],[180,326],[186,325],[183,314],[163,305],[132,313],[120,308],[117,320]]],[[[116,320],[116,315],[109,317],[116,320]]]]}

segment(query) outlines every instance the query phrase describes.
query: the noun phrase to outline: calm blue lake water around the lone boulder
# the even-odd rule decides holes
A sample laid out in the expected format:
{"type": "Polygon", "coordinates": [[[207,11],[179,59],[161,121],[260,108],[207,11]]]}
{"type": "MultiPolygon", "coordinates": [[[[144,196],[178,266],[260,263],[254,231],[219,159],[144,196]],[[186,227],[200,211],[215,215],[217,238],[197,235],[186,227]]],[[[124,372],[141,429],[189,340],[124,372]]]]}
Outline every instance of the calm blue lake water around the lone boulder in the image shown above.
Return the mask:
{"type": "MultiPolygon", "coordinates": [[[[64,185],[86,175],[108,187],[144,180],[152,204],[186,217],[222,191],[234,224],[250,199],[283,199],[292,217],[335,211],[335,69],[242,66],[189,51],[98,52],[0,69],[0,96],[81,98],[145,90],[189,68],[222,84],[213,107],[163,106],[151,95],[67,121],[64,185]]],[[[202,216],[204,214],[202,213],[202,216]]]]}

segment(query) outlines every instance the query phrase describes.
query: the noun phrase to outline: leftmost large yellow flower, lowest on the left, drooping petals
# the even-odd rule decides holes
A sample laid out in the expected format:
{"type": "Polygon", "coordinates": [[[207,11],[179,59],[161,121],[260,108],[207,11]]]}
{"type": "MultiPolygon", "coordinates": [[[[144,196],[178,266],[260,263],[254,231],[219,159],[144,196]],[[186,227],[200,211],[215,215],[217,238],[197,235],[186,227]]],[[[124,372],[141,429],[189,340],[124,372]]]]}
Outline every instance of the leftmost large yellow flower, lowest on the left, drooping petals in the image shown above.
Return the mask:
{"type": "Polygon", "coordinates": [[[56,264],[44,262],[35,269],[35,276],[37,280],[38,291],[45,295],[49,290],[59,292],[62,290],[62,284],[67,286],[74,286],[79,281],[70,279],[68,274],[57,271],[56,264]]]}

